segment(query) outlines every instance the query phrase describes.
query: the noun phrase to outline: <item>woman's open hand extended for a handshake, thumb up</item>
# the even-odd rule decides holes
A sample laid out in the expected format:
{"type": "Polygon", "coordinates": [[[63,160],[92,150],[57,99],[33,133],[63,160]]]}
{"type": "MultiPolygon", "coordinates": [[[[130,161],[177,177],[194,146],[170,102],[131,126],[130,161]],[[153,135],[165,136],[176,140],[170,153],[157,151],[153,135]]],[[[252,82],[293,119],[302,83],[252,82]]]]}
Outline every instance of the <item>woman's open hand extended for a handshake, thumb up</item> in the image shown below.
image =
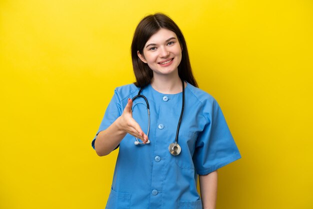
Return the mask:
{"type": "Polygon", "coordinates": [[[132,100],[128,98],[127,105],[119,117],[119,125],[125,132],[139,138],[143,143],[148,141],[148,136],[141,130],[140,125],[132,118],[132,100]]]}

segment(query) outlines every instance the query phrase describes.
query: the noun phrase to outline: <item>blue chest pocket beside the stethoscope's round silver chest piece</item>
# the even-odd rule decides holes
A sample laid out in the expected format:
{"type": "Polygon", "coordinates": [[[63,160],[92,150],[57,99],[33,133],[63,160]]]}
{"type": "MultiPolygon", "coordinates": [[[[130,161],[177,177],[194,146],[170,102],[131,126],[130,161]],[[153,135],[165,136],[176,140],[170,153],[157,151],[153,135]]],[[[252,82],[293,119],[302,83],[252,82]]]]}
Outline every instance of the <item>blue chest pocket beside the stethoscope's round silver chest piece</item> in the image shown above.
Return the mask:
{"type": "Polygon", "coordinates": [[[181,147],[180,154],[174,156],[175,163],[181,168],[194,169],[192,156],[197,135],[193,132],[179,131],[178,144],[181,147]]]}

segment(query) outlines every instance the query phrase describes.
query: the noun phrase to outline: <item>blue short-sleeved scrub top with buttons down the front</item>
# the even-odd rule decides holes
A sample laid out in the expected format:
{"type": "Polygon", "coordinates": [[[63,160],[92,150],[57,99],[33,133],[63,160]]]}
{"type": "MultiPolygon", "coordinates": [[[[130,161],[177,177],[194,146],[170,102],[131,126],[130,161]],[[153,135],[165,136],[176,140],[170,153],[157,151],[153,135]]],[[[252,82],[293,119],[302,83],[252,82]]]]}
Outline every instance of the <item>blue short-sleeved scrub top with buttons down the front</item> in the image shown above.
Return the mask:
{"type": "MultiPolygon", "coordinates": [[[[96,134],[121,115],[127,99],[138,91],[134,84],[115,89],[96,134]]],[[[149,84],[141,94],[150,107],[150,143],[135,145],[134,136],[128,133],[122,139],[106,208],[202,208],[196,190],[197,175],[241,157],[218,103],[187,83],[177,141],[181,152],[173,156],[168,145],[175,141],[182,92],[164,94],[149,84]]],[[[134,100],[132,115],[146,133],[148,118],[143,98],[134,100]]]]}

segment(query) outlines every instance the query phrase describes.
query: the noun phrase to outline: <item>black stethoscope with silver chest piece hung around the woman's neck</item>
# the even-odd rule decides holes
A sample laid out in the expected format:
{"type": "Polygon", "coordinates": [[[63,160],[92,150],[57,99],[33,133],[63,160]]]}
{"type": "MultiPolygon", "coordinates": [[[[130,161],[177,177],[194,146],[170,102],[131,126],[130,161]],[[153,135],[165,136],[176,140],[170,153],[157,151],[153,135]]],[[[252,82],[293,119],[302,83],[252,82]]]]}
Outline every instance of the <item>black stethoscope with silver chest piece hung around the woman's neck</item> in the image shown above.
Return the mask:
{"type": "MultiPolygon", "coordinates": [[[[180,121],[181,121],[181,117],[182,117],[182,113],[183,113],[183,104],[184,104],[184,83],[183,83],[183,80],[181,80],[181,83],[182,83],[182,103],[181,103],[181,112],[180,112],[180,116],[179,116],[179,120],[178,120],[178,124],[177,124],[177,130],[176,130],[176,137],[175,137],[175,142],[174,143],[171,143],[169,144],[168,146],[168,150],[169,152],[172,154],[172,155],[178,155],[181,151],[181,148],[179,146],[179,144],[177,143],[178,141],[178,133],[179,133],[179,126],[180,126],[180,121]]],[[[146,135],[149,134],[149,130],[150,130],[150,108],[149,108],[149,102],[148,100],[146,99],[146,97],[144,95],[141,95],[142,91],[142,87],[140,88],[139,92],[137,95],[135,95],[133,98],[132,98],[132,101],[134,101],[136,98],[138,97],[142,97],[144,100],[145,100],[145,103],[146,103],[146,109],[147,109],[147,114],[148,114],[148,130],[147,130],[147,133],[146,135]]],[[[138,140],[138,138],[135,136],[135,139],[136,141],[134,142],[135,145],[138,145],[138,144],[143,144],[143,142],[140,142],[138,140]]],[[[150,140],[148,140],[146,143],[150,143],[150,140]]]]}

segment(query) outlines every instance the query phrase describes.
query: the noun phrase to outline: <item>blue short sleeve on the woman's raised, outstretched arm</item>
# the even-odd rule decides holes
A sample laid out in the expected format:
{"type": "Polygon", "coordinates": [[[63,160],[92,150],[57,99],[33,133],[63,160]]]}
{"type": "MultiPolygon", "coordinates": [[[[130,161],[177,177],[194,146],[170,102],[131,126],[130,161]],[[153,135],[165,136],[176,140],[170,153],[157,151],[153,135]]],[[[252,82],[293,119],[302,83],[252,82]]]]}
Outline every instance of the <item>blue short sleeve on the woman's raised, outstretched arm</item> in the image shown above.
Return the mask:
{"type": "MultiPolygon", "coordinates": [[[[120,100],[118,98],[116,89],[114,90],[114,95],[111,98],[111,101],[109,102],[104,116],[102,118],[102,121],[100,123],[100,126],[98,128],[98,131],[96,132],[92,142],[91,142],[91,146],[94,149],[94,141],[95,138],[97,136],[97,134],[102,131],[105,130],[108,126],[110,126],[116,119],[117,117],[119,117],[121,115],[121,104],[120,104],[120,100]]],[[[117,147],[116,147],[117,148],[117,147]]]]}

